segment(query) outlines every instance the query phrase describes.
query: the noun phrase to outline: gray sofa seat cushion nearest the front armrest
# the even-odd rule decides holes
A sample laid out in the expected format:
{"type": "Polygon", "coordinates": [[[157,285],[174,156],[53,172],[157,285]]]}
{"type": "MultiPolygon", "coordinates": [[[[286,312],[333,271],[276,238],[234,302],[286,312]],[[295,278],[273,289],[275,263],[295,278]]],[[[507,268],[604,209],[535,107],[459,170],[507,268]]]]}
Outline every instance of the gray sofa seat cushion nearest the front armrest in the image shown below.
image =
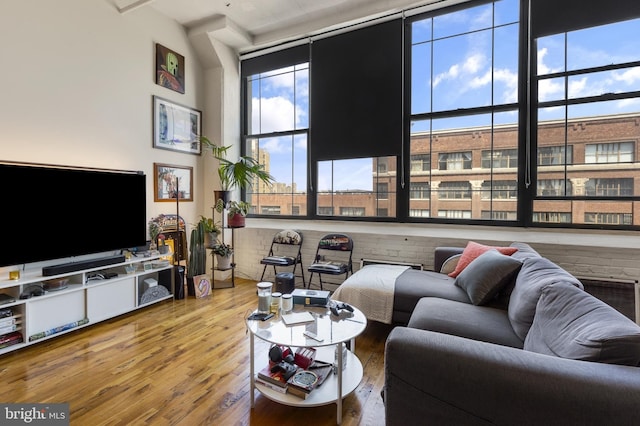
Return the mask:
{"type": "Polygon", "coordinates": [[[506,311],[438,297],[420,299],[408,327],[519,349],[523,345],[513,332],[506,311]]]}

